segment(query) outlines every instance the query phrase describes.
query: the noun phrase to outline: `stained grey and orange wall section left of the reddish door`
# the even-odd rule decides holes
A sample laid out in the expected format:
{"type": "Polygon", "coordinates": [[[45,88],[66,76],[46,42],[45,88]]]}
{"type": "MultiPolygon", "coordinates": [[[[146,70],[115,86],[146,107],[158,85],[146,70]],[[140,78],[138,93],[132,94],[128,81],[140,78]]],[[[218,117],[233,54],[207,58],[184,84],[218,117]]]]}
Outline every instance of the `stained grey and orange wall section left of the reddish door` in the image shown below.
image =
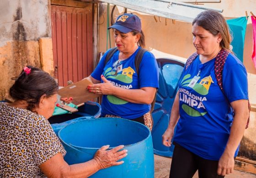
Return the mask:
{"type": "Polygon", "coordinates": [[[48,37],[48,0],[0,0],[0,100],[21,69],[41,68],[39,37],[48,37]]]}

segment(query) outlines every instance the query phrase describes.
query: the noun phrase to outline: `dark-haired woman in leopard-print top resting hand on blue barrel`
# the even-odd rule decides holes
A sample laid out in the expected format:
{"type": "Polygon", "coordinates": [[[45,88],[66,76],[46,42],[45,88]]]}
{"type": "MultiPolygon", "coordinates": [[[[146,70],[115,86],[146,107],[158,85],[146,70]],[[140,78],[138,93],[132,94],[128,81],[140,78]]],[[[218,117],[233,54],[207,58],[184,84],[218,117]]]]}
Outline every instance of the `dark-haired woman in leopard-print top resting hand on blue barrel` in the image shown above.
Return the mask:
{"type": "Polygon", "coordinates": [[[38,68],[25,67],[10,89],[15,102],[0,103],[0,177],[88,177],[127,155],[123,146],[99,149],[88,162],[68,165],[65,150],[48,118],[53,114],[58,85],[38,68]]]}

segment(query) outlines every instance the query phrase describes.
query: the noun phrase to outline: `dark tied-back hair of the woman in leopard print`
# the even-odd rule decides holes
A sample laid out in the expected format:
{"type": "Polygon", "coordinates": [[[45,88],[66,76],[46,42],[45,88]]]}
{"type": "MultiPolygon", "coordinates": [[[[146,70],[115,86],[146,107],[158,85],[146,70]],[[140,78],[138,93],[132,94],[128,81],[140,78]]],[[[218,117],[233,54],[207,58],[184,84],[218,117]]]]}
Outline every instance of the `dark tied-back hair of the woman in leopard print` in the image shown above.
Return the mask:
{"type": "Polygon", "coordinates": [[[9,94],[15,100],[27,101],[27,110],[32,111],[39,104],[43,94],[50,97],[58,92],[58,84],[43,70],[32,66],[27,68],[31,69],[29,74],[22,70],[18,78],[12,78],[15,79],[15,83],[10,88],[9,94]]]}

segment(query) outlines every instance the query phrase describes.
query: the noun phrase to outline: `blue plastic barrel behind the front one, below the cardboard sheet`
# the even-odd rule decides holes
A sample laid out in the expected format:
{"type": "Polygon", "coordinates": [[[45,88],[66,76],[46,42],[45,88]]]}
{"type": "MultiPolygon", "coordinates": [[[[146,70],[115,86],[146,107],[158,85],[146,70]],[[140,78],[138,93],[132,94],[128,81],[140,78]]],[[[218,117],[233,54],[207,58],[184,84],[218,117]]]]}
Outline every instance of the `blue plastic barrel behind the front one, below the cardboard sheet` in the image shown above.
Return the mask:
{"type": "Polygon", "coordinates": [[[101,105],[96,102],[87,101],[85,105],[78,107],[78,112],[72,114],[54,115],[48,119],[53,127],[53,131],[58,136],[58,132],[64,126],[73,122],[83,120],[85,118],[95,117],[101,115],[101,105]],[[85,117],[86,116],[86,117],[85,117]]]}

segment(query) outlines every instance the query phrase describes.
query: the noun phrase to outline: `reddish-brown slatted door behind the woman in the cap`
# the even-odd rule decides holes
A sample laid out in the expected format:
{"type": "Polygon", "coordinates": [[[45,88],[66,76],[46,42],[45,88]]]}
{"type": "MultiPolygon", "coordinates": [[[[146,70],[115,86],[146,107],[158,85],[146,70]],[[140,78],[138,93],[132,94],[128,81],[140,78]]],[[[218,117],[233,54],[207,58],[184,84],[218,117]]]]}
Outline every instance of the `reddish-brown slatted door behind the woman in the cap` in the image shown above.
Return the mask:
{"type": "Polygon", "coordinates": [[[93,70],[92,6],[76,8],[52,5],[54,78],[59,86],[77,82],[93,70]]]}

